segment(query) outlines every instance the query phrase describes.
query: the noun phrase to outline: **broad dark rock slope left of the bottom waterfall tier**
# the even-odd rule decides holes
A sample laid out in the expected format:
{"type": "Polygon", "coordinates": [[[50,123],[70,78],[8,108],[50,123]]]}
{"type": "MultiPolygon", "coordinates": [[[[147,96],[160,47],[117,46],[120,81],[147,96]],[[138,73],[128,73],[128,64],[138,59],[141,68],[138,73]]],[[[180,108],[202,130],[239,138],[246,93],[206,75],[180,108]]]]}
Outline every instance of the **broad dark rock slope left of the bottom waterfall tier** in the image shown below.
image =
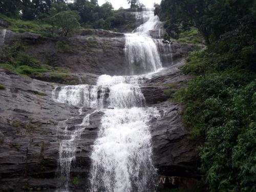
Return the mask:
{"type": "MultiPolygon", "coordinates": [[[[0,76],[0,83],[5,86],[5,90],[0,91],[1,189],[54,191],[61,185],[56,177],[61,141],[57,125],[66,119],[70,119],[68,126],[79,124],[94,110],[83,109],[79,115],[76,107],[54,102],[52,90],[56,84],[4,70],[0,76]]],[[[101,112],[91,115],[90,125],[79,139],[71,186],[73,177],[88,176],[91,146],[97,137],[101,116],[101,112]]]]}

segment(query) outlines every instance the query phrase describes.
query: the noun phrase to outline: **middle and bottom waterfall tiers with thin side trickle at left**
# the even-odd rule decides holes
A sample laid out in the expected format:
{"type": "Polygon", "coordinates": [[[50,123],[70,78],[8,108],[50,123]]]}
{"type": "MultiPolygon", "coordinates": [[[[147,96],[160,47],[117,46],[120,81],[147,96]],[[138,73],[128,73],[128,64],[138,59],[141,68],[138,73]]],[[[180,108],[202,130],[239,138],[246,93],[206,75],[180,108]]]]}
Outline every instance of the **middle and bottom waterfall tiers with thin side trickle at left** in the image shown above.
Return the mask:
{"type": "MultiPolygon", "coordinates": [[[[92,153],[91,191],[154,191],[156,170],[152,163],[150,119],[159,116],[153,108],[142,108],[144,96],[139,76],[102,75],[96,86],[64,86],[53,91],[55,101],[101,109],[104,116],[92,153]],[[128,82],[128,83],[126,83],[128,82]],[[111,108],[111,109],[108,109],[111,108]],[[112,109],[114,108],[114,109],[112,109]]],[[[68,191],[69,171],[75,159],[76,140],[88,125],[87,116],[73,132],[65,123],[68,139],[60,142],[59,163],[68,191]],[[83,128],[81,128],[83,127],[83,128]]]]}

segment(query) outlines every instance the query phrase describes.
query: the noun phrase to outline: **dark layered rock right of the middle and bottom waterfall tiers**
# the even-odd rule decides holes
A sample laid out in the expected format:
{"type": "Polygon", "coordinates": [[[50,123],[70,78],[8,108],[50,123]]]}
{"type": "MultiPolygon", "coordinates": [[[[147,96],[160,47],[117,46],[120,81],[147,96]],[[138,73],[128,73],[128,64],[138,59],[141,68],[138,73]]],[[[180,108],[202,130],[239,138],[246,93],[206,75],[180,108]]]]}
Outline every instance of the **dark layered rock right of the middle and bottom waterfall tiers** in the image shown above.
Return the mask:
{"type": "MultiPolygon", "coordinates": [[[[184,86],[191,76],[182,75],[183,62],[161,71],[141,87],[147,105],[158,109],[161,117],[151,122],[154,162],[158,174],[167,177],[198,179],[198,141],[189,139],[189,132],[181,122],[181,105],[166,101],[184,86]],[[168,93],[169,94],[169,93],[168,93]]],[[[177,181],[178,182],[178,181],[177,181]]],[[[177,183],[176,184],[179,184],[177,183]]]]}

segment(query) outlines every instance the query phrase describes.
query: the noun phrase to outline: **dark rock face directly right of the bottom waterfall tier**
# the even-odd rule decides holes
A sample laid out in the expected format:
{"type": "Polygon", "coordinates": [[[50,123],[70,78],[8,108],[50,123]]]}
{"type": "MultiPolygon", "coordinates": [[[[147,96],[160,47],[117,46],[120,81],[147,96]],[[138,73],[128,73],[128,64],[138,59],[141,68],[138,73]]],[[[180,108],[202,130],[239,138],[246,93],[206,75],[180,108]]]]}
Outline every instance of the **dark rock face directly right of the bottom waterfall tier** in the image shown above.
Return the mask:
{"type": "Polygon", "coordinates": [[[154,162],[158,174],[196,177],[198,173],[197,142],[189,139],[181,123],[181,106],[164,102],[156,105],[161,118],[151,122],[154,162]]]}

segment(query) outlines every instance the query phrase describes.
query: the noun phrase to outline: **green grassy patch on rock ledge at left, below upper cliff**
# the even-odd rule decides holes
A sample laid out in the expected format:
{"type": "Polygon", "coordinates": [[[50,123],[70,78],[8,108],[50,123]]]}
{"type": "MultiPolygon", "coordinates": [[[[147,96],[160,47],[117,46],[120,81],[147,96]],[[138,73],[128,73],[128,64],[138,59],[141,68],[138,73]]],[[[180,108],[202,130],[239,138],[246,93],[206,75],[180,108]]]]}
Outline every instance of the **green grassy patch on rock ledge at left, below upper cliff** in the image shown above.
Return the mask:
{"type": "MultiPolygon", "coordinates": [[[[62,41],[56,43],[56,49],[63,52],[70,51],[68,45],[62,41]]],[[[2,47],[0,52],[0,69],[50,82],[78,83],[76,80],[68,79],[70,75],[67,69],[41,65],[36,58],[23,52],[22,47],[18,45],[2,47]]]]}

